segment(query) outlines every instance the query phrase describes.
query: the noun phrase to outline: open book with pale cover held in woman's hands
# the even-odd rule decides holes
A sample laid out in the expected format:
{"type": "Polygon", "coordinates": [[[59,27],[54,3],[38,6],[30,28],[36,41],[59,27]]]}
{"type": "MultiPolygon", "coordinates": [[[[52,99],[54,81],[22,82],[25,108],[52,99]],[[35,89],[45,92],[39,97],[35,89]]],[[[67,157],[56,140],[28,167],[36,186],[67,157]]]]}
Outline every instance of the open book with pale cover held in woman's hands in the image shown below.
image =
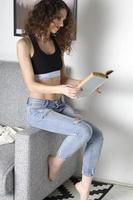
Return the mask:
{"type": "Polygon", "coordinates": [[[93,93],[97,88],[99,88],[105,81],[108,80],[109,75],[113,70],[109,70],[105,73],[101,72],[92,72],[86,78],[84,78],[78,87],[81,88],[81,91],[77,97],[84,97],[93,93]]]}

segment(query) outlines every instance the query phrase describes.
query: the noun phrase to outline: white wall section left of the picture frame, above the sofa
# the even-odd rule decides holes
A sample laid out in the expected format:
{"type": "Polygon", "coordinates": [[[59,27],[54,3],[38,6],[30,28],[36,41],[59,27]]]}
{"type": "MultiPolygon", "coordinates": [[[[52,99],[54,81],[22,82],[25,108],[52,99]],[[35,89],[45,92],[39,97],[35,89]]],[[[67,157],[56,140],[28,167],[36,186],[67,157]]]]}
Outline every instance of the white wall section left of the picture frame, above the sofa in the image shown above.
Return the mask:
{"type": "Polygon", "coordinates": [[[0,60],[17,59],[13,26],[13,1],[0,1],[0,60]]]}

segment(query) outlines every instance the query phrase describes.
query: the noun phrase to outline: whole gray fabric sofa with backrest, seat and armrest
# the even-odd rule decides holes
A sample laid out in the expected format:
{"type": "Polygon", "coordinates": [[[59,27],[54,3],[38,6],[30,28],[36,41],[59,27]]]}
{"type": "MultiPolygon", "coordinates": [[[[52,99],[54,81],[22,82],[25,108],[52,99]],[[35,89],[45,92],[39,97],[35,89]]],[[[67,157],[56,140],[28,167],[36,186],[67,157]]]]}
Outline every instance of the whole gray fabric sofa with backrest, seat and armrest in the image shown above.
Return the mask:
{"type": "Polygon", "coordinates": [[[18,63],[0,61],[0,124],[24,128],[15,143],[0,146],[0,200],[42,200],[77,171],[80,150],[48,180],[47,157],[66,136],[27,125],[27,95],[18,63]]]}

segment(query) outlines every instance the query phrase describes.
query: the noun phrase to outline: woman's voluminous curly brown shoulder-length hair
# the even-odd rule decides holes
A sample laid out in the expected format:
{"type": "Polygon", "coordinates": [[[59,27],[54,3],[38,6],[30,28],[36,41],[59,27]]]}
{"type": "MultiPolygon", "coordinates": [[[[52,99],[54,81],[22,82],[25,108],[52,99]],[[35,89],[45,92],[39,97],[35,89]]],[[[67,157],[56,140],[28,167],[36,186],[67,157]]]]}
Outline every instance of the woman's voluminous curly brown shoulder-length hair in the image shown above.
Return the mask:
{"type": "Polygon", "coordinates": [[[71,10],[63,0],[41,0],[34,5],[28,13],[22,36],[33,35],[37,38],[47,38],[48,27],[61,9],[66,9],[67,17],[64,20],[64,26],[54,36],[61,51],[70,52],[75,25],[71,10]]]}

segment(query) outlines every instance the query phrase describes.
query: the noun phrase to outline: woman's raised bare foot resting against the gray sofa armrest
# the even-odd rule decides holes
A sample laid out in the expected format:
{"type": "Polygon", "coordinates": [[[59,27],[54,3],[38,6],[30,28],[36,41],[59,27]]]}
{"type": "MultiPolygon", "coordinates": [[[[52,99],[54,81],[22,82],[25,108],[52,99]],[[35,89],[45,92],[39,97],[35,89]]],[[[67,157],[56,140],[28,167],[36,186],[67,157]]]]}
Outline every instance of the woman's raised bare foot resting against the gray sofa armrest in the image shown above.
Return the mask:
{"type": "Polygon", "coordinates": [[[61,164],[58,163],[57,159],[49,155],[48,156],[48,178],[50,181],[54,181],[59,174],[61,164]]]}

